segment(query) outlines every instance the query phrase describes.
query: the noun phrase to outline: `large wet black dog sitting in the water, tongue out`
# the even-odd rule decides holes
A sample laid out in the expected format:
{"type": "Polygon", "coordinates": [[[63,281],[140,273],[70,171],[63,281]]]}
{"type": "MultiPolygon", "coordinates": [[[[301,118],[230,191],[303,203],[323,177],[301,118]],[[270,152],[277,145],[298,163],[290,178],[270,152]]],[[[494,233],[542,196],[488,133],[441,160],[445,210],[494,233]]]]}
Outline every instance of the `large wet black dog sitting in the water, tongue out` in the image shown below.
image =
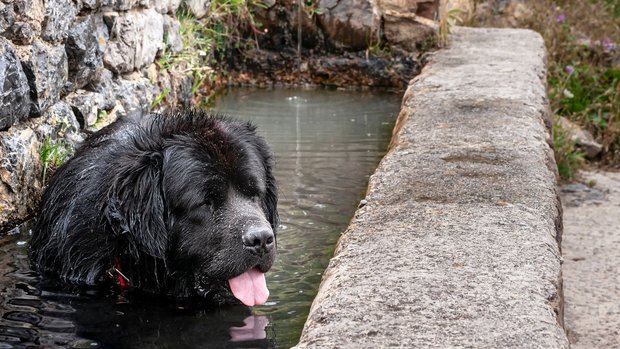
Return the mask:
{"type": "Polygon", "coordinates": [[[262,304],[278,225],[272,165],[249,123],[202,112],[119,120],[50,180],[33,265],[76,284],[118,278],[175,297],[232,291],[262,304]]]}

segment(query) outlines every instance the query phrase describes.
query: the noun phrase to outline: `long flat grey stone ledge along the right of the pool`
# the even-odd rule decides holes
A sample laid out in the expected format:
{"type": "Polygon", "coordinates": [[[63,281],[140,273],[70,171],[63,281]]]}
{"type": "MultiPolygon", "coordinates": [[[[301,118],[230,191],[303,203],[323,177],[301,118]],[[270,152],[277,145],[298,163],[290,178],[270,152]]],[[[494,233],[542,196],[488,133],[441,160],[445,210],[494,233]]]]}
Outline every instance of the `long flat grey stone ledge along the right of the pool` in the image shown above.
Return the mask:
{"type": "Polygon", "coordinates": [[[545,52],[459,28],[407,90],[298,348],[567,348],[545,52]]]}

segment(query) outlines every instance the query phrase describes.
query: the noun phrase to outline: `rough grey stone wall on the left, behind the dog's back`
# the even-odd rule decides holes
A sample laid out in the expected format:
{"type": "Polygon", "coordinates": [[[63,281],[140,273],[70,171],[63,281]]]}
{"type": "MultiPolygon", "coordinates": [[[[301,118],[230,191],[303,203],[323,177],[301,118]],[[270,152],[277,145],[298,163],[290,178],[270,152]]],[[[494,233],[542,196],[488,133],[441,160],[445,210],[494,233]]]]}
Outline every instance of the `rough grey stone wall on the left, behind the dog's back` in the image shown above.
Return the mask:
{"type": "Polygon", "coordinates": [[[117,117],[140,117],[167,88],[169,104],[191,103],[191,78],[154,63],[182,48],[180,2],[1,0],[0,231],[35,206],[43,142],[73,147],[117,117]]]}

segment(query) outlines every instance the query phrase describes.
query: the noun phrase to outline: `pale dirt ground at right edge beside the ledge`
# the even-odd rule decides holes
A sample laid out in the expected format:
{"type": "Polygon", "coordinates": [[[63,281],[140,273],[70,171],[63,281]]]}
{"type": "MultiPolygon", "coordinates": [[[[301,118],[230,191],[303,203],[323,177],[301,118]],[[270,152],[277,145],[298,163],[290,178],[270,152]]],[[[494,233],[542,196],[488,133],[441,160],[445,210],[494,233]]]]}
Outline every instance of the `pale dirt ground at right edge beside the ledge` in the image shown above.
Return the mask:
{"type": "Polygon", "coordinates": [[[565,327],[572,348],[620,348],[620,173],[561,187],[565,327]]]}

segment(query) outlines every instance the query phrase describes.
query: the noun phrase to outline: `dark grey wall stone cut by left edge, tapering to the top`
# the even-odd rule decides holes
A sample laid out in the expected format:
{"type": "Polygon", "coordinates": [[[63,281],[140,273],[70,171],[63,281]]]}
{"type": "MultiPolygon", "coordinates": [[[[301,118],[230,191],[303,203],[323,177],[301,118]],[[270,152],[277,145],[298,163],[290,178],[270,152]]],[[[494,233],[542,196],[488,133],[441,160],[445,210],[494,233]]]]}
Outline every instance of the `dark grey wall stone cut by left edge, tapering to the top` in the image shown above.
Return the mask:
{"type": "Polygon", "coordinates": [[[13,46],[0,37],[0,130],[24,120],[33,108],[30,87],[13,46]]]}

